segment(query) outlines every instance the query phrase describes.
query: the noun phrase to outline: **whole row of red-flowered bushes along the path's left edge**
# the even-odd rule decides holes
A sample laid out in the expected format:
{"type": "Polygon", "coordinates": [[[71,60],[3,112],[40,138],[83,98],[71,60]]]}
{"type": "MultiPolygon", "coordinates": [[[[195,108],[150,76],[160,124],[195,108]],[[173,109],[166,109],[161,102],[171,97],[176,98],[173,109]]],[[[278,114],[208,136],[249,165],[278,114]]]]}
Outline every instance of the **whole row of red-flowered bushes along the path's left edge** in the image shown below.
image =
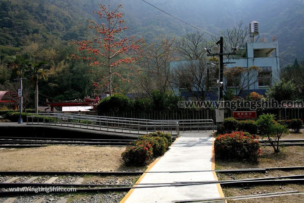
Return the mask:
{"type": "Polygon", "coordinates": [[[172,135],[157,131],[141,135],[121,154],[127,165],[143,165],[150,158],[163,155],[172,144],[172,135]]]}

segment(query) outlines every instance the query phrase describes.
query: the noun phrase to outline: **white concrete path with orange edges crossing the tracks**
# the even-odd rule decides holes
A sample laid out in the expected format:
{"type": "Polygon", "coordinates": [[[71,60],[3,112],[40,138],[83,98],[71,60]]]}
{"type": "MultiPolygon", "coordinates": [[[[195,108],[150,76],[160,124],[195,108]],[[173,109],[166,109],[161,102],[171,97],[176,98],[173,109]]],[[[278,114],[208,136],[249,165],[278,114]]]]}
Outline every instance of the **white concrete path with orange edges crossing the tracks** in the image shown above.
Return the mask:
{"type": "MultiPolygon", "coordinates": [[[[214,170],[213,137],[211,132],[182,133],[148,171],[214,170]]],[[[217,180],[215,172],[144,173],[141,184],[174,183],[178,181],[217,180]]],[[[131,189],[120,203],[169,203],[178,200],[223,197],[219,184],[171,186],[131,189]]]]}

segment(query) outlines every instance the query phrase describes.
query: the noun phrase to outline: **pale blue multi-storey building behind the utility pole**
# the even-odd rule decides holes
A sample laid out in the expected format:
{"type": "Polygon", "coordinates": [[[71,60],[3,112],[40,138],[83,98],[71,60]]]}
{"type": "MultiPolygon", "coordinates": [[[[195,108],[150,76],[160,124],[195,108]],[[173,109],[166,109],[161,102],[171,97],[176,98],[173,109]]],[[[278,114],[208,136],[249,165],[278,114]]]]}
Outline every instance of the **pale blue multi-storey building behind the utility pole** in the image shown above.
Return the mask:
{"type": "MultiPolygon", "coordinates": [[[[177,67],[177,65],[183,65],[185,62],[186,61],[172,61],[170,62],[170,67],[174,68],[177,67]]],[[[224,89],[226,89],[226,91],[232,89],[236,95],[239,94],[241,97],[246,97],[246,95],[251,92],[265,94],[266,90],[280,79],[278,41],[247,42],[240,46],[236,54],[233,55],[233,58],[224,58],[224,64],[225,62],[233,62],[225,65],[224,69],[226,70],[235,67],[249,70],[245,68],[253,66],[258,69],[254,72],[251,71],[250,75],[245,75],[246,71],[240,75],[234,75],[232,80],[224,76],[224,89]]],[[[217,100],[218,98],[218,87],[214,84],[216,83],[216,79],[218,79],[218,77],[209,77],[209,100],[217,100]]],[[[195,95],[186,89],[176,88],[176,92],[184,96],[185,100],[195,100],[195,95]]],[[[202,89],[202,92],[206,95],[206,86],[202,89]]],[[[197,92],[197,95],[201,94],[201,92],[197,92]]]]}

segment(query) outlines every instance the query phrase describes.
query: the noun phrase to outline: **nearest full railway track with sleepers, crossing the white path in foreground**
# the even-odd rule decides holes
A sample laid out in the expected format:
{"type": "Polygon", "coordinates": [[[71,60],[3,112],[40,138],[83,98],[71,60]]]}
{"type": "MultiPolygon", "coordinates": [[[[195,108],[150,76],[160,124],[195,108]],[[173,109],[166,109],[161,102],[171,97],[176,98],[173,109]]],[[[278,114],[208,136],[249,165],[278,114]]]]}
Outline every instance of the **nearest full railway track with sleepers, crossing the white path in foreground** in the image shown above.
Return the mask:
{"type": "MultiPolygon", "coordinates": [[[[249,172],[264,172],[266,170],[303,170],[304,166],[297,167],[277,167],[277,168],[255,168],[255,169],[233,169],[233,170],[202,170],[202,171],[215,171],[218,173],[249,173],[249,172]]],[[[55,171],[0,171],[0,175],[9,176],[9,180],[0,182],[0,196],[12,196],[21,194],[35,194],[35,191],[16,191],[12,188],[23,188],[23,187],[61,187],[61,188],[76,188],[77,193],[82,192],[108,192],[108,191],[129,191],[132,188],[151,188],[151,187],[179,187],[187,185],[200,185],[200,184],[220,184],[221,186],[238,187],[248,185],[267,185],[267,184],[284,184],[284,183],[304,183],[304,175],[292,175],[292,176],[279,176],[279,177],[265,177],[265,178],[253,178],[245,180],[216,180],[216,181],[190,181],[190,182],[172,182],[172,183],[157,183],[157,184],[135,184],[134,182],[127,184],[88,184],[82,183],[84,181],[83,176],[130,176],[130,175],[141,175],[143,173],[193,173],[202,171],[159,171],[159,172],[55,172],[55,171]],[[48,175],[48,180],[44,182],[36,182],[41,176],[48,175]],[[56,182],[58,177],[62,176],[74,176],[77,179],[74,183],[61,183],[56,182]],[[28,178],[25,181],[19,181],[22,176],[28,178]],[[17,182],[16,182],[17,181],[17,182]],[[134,187],[136,185],[136,187],[134,187]],[[10,188],[8,190],[8,188],[10,188]]],[[[39,191],[44,193],[45,191],[39,191]]],[[[54,191],[54,193],[60,193],[60,191],[54,191]]]]}

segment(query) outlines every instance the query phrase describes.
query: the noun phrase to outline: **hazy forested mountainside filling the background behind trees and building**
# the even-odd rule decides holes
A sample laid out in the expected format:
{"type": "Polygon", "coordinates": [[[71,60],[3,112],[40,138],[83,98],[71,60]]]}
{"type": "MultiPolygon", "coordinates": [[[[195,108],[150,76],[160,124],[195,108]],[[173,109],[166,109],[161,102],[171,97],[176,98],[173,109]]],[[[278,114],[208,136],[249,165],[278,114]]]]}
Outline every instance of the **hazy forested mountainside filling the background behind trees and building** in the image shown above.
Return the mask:
{"type": "MultiPolygon", "coordinates": [[[[304,3],[301,0],[149,0],[173,16],[205,31],[204,37],[218,35],[242,20],[260,23],[260,38],[279,41],[282,65],[294,58],[304,58],[304,3]],[[209,33],[209,34],[208,34],[209,33]]],[[[74,40],[94,39],[87,29],[87,20],[96,20],[94,10],[99,3],[113,8],[123,4],[126,26],[120,37],[134,35],[146,44],[168,34],[169,38],[196,31],[195,28],[161,12],[141,0],[0,0],[0,59],[2,87],[16,76],[6,63],[13,55],[21,54],[31,61],[46,61],[49,79],[41,81],[40,93],[54,99],[66,100],[90,95],[92,83],[100,75],[98,68],[86,61],[74,61],[70,56],[77,48],[68,44],[74,40]],[[92,72],[93,70],[93,72],[92,72]]],[[[99,19],[97,19],[98,21],[99,19]]],[[[131,79],[133,76],[130,76],[131,79]]],[[[5,86],[6,85],[6,86],[5,86]]],[[[128,92],[126,84],[117,91],[128,92]]],[[[3,89],[3,88],[2,88],[3,89]]],[[[41,96],[41,100],[46,97],[41,96]]]]}

